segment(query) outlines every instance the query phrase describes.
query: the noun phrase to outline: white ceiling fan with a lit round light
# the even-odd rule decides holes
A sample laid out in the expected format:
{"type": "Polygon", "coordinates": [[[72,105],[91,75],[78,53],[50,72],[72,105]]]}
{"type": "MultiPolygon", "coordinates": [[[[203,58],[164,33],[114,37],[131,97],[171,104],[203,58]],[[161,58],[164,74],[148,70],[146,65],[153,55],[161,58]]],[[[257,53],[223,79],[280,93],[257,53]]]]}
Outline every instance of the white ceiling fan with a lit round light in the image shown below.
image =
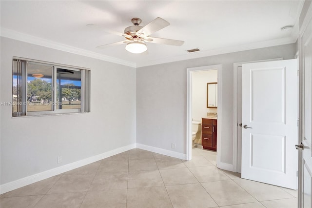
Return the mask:
{"type": "MultiPolygon", "coordinates": [[[[131,53],[143,53],[144,51],[147,50],[145,42],[160,43],[175,46],[181,46],[184,43],[184,41],[156,38],[150,36],[156,31],[161,30],[162,28],[170,25],[170,23],[168,21],[165,21],[164,19],[157,17],[155,20],[151,21],[146,26],[139,25],[142,22],[141,19],[139,18],[133,18],[131,21],[134,25],[127,27],[123,33],[105,29],[106,32],[125,37],[126,38],[125,41],[99,45],[97,46],[97,48],[106,48],[108,46],[127,43],[126,44],[127,51],[131,53]]],[[[87,26],[98,27],[95,24],[87,24],[87,26]]]]}

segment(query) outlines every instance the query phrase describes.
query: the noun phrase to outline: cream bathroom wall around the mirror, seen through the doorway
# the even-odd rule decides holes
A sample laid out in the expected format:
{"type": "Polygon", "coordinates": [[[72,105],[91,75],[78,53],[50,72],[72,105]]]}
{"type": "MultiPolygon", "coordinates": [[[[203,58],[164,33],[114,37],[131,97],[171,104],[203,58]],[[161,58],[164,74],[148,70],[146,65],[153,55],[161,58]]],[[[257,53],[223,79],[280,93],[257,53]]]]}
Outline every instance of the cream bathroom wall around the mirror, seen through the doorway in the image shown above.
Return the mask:
{"type": "Polygon", "coordinates": [[[192,72],[192,119],[201,121],[208,112],[216,108],[207,108],[207,83],[218,82],[218,70],[192,72]]]}

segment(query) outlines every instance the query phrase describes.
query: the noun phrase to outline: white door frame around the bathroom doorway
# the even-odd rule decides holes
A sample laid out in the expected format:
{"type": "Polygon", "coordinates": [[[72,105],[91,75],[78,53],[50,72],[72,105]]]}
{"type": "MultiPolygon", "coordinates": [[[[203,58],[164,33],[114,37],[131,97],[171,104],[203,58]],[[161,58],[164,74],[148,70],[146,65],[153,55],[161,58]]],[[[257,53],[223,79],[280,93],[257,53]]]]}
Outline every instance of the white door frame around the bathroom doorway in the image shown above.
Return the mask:
{"type": "Polygon", "coordinates": [[[207,65],[199,67],[187,68],[187,90],[186,90],[186,160],[192,160],[192,72],[195,71],[208,71],[218,70],[217,82],[218,82],[218,127],[217,127],[217,166],[220,164],[220,150],[221,150],[221,125],[222,125],[222,84],[221,74],[222,65],[207,65]]]}

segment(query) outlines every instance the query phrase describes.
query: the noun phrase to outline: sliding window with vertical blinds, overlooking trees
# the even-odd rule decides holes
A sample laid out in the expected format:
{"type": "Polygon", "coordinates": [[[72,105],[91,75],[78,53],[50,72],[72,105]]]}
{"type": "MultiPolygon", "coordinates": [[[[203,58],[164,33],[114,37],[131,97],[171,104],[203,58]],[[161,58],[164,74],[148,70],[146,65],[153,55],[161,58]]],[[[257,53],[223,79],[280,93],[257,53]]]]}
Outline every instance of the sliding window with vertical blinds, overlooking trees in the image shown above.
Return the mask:
{"type": "Polygon", "coordinates": [[[13,116],[90,112],[90,70],[13,58],[13,116]]]}

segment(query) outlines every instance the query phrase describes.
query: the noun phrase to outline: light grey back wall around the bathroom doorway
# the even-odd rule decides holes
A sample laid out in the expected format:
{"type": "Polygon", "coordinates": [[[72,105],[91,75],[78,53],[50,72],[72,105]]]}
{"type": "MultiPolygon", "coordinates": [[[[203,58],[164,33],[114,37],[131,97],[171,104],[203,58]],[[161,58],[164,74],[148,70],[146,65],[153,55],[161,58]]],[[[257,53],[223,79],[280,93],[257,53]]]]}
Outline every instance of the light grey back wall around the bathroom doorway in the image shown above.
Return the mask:
{"type": "Polygon", "coordinates": [[[293,43],[137,68],[137,143],[185,154],[186,69],[222,64],[221,162],[233,164],[233,63],[294,54],[293,43]]]}

